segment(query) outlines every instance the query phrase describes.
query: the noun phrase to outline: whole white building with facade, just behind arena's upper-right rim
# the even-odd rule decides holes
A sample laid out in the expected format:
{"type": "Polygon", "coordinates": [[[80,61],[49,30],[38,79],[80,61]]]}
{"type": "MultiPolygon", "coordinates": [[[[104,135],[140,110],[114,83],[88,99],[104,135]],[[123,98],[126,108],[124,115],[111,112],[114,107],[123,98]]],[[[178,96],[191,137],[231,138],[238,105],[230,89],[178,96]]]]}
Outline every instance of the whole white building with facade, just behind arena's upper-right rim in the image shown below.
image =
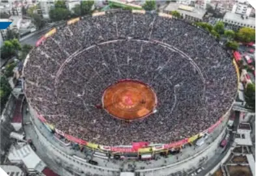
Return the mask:
{"type": "Polygon", "coordinates": [[[180,15],[184,19],[188,19],[190,21],[202,21],[206,13],[206,10],[201,8],[180,5],[180,3],[169,3],[169,5],[165,7],[164,12],[169,14],[172,11],[180,12],[180,15]]]}

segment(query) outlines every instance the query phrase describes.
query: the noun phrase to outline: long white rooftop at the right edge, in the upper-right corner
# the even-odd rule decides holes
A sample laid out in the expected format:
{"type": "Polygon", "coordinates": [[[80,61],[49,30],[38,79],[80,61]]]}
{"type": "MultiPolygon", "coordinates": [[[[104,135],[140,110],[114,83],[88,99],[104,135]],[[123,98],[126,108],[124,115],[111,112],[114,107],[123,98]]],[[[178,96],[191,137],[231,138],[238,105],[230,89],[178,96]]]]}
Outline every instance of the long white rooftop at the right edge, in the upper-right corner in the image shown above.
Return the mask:
{"type": "Polygon", "coordinates": [[[234,21],[237,23],[244,23],[246,25],[255,26],[255,18],[248,17],[248,19],[246,19],[246,18],[242,19],[240,14],[234,14],[231,12],[227,12],[225,14],[225,16],[223,17],[223,19],[224,19],[224,21],[225,21],[225,19],[227,19],[227,20],[234,21]]]}

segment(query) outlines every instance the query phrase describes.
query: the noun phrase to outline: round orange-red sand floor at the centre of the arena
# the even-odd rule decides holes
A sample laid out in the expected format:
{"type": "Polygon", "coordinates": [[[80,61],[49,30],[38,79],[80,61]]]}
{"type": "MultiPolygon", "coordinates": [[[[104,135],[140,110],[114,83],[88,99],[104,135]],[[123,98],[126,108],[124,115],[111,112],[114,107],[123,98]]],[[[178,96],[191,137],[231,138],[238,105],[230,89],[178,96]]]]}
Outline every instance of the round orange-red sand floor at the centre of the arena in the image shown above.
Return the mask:
{"type": "Polygon", "coordinates": [[[102,98],[109,114],[126,120],[149,116],[156,107],[156,102],[156,94],[147,84],[132,80],[109,86],[102,98]]]}

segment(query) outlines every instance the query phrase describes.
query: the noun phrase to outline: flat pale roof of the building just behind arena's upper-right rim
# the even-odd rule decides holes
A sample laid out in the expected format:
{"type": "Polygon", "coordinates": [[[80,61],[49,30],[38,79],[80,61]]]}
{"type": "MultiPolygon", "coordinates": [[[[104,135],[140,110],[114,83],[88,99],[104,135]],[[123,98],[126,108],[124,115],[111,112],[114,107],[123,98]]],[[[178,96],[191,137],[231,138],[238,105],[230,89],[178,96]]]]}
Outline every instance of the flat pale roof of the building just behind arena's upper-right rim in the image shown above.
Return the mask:
{"type": "Polygon", "coordinates": [[[194,8],[192,6],[180,5],[179,3],[169,3],[169,5],[164,9],[165,11],[171,12],[177,10],[180,14],[185,14],[188,16],[193,16],[195,18],[203,19],[206,10],[201,8],[194,8]]]}

